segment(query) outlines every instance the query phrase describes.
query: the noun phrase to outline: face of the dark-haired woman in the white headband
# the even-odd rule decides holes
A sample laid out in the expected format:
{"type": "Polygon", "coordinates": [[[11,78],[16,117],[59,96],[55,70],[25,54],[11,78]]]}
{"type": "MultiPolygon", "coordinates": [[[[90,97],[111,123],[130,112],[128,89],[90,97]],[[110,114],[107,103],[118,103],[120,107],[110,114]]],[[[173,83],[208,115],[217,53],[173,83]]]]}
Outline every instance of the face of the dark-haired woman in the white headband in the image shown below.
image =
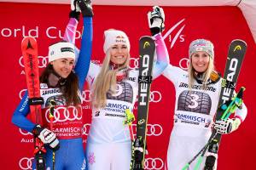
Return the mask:
{"type": "Polygon", "coordinates": [[[50,62],[55,72],[62,78],[67,78],[73,70],[74,60],[71,58],[55,59],[50,62]]]}

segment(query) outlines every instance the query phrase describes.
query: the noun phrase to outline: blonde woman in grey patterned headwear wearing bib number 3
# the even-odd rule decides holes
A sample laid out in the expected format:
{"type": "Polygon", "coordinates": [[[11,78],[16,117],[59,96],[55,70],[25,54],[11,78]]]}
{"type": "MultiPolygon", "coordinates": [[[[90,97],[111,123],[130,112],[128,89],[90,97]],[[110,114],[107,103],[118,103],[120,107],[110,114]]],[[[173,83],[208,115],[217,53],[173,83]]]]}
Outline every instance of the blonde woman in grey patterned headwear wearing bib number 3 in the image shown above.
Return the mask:
{"type": "MultiPolygon", "coordinates": [[[[166,54],[165,54],[166,55],[166,54]]],[[[197,39],[189,45],[189,70],[168,65],[163,75],[176,90],[174,126],[167,151],[167,169],[180,170],[207,144],[218,108],[221,77],[214,70],[212,42],[197,39]]],[[[218,133],[235,131],[247,116],[247,108],[237,109],[234,118],[216,122],[218,133]]],[[[195,160],[189,166],[194,169],[195,160]]],[[[201,163],[200,169],[205,165],[201,163]]],[[[217,168],[217,165],[214,166],[217,168]]]]}

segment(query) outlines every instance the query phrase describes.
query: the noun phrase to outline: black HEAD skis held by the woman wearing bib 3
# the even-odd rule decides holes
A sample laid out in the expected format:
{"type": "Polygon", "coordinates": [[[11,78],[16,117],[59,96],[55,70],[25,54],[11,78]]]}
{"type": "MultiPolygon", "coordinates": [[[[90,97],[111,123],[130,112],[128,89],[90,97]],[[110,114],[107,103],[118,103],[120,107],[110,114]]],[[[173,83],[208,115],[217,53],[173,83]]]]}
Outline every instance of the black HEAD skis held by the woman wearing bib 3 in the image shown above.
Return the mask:
{"type": "MultiPolygon", "coordinates": [[[[233,97],[246,49],[247,43],[242,40],[236,39],[230,43],[215,120],[220,120],[223,116],[223,110],[221,108],[221,105],[224,105],[224,103],[230,101],[233,97]]],[[[204,168],[205,170],[213,170],[216,161],[215,155],[218,154],[221,134],[217,133],[215,129],[213,129],[212,131],[212,135],[213,134],[216,135],[209,144],[208,152],[210,154],[209,156],[207,156],[204,168]]]]}

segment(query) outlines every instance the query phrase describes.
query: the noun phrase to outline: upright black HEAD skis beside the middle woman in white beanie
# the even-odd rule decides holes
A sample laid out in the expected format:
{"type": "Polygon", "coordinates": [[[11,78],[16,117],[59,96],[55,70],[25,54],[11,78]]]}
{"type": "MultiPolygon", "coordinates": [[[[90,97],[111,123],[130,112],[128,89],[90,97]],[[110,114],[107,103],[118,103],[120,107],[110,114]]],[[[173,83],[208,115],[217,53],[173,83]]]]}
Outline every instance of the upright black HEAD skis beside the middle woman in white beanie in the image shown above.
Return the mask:
{"type": "Polygon", "coordinates": [[[132,145],[132,170],[144,169],[146,133],[148,123],[148,101],[152,82],[155,44],[152,37],[141,37],[139,42],[140,67],[138,77],[137,137],[132,145]]]}

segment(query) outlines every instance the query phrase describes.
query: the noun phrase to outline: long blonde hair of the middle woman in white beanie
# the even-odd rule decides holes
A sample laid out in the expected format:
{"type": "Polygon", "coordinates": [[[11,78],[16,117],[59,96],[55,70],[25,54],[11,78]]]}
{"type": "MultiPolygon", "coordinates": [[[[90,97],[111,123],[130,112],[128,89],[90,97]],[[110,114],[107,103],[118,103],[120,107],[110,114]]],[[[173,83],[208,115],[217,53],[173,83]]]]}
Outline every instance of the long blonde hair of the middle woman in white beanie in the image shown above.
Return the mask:
{"type": "Polygon", "coordinates": [[[106,53],[105,59],[102,63],[102,69],[99,75],[96,77],[96,82],[94,83],[92,89],[92,105],[95,108],[103,108],[106,106],[107,93],[115,93],[116,89],[116,73],[124,68],[128,68],[130,62],[130,54],[128,54],[125,63],[119,66],[118,69],[113,70],[110,64],[110,48],[106,53]]]}

